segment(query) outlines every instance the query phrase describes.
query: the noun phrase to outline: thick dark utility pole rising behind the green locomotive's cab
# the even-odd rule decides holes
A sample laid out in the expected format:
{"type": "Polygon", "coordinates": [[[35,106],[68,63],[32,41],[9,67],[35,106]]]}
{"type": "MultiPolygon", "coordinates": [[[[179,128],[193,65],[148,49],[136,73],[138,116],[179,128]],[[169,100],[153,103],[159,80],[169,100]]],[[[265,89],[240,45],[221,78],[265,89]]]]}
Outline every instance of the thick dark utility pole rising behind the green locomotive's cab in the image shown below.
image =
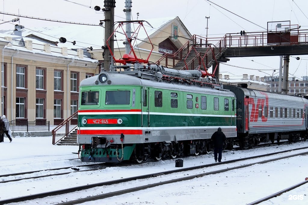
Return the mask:
{"type": "MultiPolygon", "coordinates": [[[[105,0],[104,1],[103,11],[105,11],[105,55],[104,55],[104,70],[109,70],[110,68],[110,60],[112,58],[109,49],[107,48],[106,41],[111,36],[114,31],[114,8],[115,8],[115,0],[105,0]]],[[[111,36],[108,42],[111,51],[114,50],[114,37],[111,36]]]]}

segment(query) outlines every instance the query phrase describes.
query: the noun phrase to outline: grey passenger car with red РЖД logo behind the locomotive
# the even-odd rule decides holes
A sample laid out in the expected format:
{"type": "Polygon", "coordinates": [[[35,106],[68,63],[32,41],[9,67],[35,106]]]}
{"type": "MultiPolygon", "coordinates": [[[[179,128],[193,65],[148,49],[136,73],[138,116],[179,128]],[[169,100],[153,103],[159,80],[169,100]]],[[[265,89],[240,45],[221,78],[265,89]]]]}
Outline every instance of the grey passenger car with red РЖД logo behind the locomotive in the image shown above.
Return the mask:
{"type": "Polygon", "coordinates": [[[237,98],[237,135],[241,147],[260,141],[305,139],[307,134],[306,98],[224,85],[237,98]]]}

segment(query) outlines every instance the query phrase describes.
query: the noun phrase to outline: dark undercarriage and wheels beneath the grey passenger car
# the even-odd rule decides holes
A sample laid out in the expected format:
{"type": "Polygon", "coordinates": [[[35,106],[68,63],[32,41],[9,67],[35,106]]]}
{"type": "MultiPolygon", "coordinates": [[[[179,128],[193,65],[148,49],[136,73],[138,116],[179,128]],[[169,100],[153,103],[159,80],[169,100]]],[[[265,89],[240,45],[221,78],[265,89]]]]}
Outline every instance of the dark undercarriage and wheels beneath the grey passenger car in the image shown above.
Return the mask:
{"type": "Polygon", "coordinates": [[[271,142],[274,143],[275,140],[280,142],[280,140],[288,140],[289,143],[297,142],[298,140],[306,141],[308,134],[306,131],[299,132],[271,132],[262,134],[248,134],[239,133],[234,144],[239,146],[241,149],[252,148],[255,145],[260,144],[260,142],[271,142]]]}

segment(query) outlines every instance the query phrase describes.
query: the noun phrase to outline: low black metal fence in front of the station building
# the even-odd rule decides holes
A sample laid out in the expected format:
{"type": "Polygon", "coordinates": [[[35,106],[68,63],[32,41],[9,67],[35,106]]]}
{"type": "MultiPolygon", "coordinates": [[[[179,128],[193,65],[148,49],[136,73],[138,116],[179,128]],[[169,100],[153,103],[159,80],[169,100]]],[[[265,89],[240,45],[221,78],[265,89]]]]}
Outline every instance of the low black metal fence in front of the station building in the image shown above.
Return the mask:
{"type": "Polygon", "coordinates": [[[17,131],[50,131],[49,121],[43,120],[35,120],[35,121],[20,121],[20,120],[12,120],[10,121],[10,130],[12,134],[17,131]]]}

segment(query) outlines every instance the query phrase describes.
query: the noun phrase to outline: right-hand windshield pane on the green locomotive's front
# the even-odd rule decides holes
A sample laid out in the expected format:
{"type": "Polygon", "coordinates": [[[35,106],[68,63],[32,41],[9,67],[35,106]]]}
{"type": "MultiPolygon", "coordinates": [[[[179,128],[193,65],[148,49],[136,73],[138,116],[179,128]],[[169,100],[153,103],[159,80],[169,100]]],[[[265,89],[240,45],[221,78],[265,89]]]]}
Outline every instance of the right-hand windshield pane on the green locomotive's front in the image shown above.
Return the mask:
{"type": "Polygon", "coordinates": [[[131,91],[129,90],[113,90],[106,91],[105,104],[129,104],[131,91]]]}

